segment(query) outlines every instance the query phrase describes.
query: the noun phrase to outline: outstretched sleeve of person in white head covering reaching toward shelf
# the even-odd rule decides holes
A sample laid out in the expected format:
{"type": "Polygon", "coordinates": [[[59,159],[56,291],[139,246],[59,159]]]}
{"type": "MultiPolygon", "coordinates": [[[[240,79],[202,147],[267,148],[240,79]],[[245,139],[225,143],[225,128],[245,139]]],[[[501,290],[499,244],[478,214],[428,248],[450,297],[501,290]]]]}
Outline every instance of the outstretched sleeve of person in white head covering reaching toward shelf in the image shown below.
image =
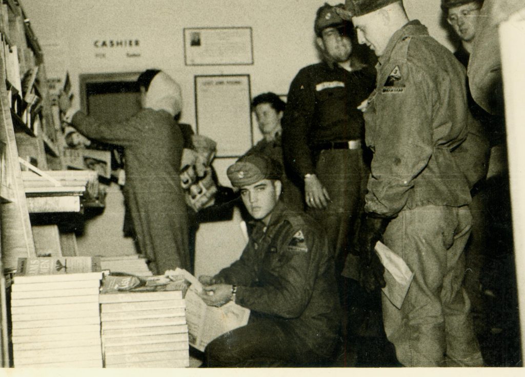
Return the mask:
{"type": "Polygon", "coordinates": [[[89,139],[129,146],[143,140],[144,132],[148,129],[149,122],[142,114],[139,112],[121,122],[103,122],[77,111],[70,123],[89,139]]]}

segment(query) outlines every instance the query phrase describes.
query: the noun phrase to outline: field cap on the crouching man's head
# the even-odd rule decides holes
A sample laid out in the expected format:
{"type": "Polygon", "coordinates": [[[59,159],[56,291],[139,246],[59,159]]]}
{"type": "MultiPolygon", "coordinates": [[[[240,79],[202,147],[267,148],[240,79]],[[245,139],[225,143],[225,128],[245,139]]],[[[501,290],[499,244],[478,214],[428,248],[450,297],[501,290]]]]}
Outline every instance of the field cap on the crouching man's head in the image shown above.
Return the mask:
{"type": "Polygon", "coordinates": [[[264,154],[249,154],[228,167],[228,179],[234,187],[248,186],[261,180],[280,180],[281,164],[264,154]]]}

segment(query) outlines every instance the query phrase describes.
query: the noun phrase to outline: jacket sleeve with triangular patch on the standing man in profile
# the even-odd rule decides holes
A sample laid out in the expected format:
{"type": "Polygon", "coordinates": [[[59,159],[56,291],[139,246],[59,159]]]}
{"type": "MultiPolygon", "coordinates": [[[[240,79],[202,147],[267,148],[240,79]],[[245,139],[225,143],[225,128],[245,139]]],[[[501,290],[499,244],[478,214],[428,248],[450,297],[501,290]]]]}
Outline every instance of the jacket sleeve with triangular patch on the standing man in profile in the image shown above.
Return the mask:
{"type": "Polygon", "coordinates": [[[432,109],[439,99],[423,69],[406,60],[391,61],[387,69],[392,73],[373,100],[375,108],[367,109],[375,111],[375,130],[365,211],[390,217],[403,209],[413,180],[432,157],[432,109]]]}

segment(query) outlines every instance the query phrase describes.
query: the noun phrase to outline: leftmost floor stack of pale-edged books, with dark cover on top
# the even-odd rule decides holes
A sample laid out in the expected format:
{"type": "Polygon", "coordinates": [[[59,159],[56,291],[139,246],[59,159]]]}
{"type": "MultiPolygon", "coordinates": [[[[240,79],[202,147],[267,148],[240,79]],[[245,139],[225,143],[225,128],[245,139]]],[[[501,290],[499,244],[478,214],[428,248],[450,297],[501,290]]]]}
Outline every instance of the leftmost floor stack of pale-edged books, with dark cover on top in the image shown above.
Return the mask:
{"type": "Polygon", "coordinates": [[[11,286],[14,366],[101,368],[101,279],[91,257],[20,258],[11,286]]]}

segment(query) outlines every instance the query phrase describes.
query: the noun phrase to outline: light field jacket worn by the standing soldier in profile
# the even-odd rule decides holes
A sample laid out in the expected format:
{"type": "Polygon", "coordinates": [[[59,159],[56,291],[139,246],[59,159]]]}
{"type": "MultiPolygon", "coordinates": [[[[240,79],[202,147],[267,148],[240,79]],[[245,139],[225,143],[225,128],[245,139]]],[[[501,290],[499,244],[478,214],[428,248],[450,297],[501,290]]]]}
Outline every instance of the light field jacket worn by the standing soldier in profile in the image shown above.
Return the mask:
{"type": "Polygon", "coordinates": [[[452,155],[468,133],[464,68],[413,20],[394,33],[376,69],[364,113],[374,153],[365,211],[468,204],[469,184],[452,155]]]}

